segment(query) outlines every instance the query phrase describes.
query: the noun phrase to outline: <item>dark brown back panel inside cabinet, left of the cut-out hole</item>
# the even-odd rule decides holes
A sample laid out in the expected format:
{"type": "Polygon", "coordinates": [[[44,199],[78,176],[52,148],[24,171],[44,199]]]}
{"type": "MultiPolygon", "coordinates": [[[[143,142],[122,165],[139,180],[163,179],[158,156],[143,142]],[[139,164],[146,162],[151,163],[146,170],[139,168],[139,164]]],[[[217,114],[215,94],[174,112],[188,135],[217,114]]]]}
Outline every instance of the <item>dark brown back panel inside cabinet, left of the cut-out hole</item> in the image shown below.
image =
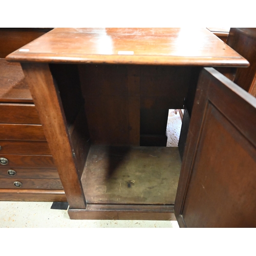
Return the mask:
{"type": "Polygon", "coordinates": [[[139,66],[80,65],[90,138],[97,144],[139,145],[139,66]]]}

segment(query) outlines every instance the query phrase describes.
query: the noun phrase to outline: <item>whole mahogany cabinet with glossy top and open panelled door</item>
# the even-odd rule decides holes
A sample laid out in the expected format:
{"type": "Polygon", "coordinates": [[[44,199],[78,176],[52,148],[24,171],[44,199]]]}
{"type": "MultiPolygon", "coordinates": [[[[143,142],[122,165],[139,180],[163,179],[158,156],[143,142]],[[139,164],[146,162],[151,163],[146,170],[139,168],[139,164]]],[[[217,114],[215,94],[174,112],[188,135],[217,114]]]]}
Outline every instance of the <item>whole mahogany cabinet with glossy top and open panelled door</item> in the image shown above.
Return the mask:
{"type": "Polygon", "coordinates": [[[212,68],[249,63],[209,30],[56,28],[7,60],[22,65],[71,219],[256,226],[256,104],[212,68]],[[169,109],[185,109],[179,147],[166,147],[169,109]]]}

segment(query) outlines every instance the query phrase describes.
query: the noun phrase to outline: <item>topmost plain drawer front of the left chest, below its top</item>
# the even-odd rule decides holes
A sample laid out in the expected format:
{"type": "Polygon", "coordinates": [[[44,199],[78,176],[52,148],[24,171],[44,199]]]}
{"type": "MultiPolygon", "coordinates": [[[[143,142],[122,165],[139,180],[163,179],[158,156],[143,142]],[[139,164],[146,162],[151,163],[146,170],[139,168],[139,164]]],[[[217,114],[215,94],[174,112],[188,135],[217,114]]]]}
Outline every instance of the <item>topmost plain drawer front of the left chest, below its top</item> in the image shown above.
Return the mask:
{"type": "Polygon", "coordinates": [[[1,123],[40,124],[34,104],[0,103],[1,123]]]}

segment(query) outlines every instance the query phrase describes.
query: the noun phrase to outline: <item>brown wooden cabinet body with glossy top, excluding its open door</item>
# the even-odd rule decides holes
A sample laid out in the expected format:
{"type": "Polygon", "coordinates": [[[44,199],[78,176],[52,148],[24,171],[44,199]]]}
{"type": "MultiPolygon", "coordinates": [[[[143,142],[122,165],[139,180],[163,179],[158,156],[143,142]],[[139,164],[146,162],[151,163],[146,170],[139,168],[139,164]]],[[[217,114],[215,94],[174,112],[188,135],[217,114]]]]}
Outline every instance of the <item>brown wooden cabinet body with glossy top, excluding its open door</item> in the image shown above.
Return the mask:
{"type": "Polygon", "coordinates": [[[249,65],[206,28],[57,28],[7,60],[22,64],[71,219],[175,218],[199,73],[249,65]],[[183,108],[180,150],[167,148],[168,109],[183,108]]]}

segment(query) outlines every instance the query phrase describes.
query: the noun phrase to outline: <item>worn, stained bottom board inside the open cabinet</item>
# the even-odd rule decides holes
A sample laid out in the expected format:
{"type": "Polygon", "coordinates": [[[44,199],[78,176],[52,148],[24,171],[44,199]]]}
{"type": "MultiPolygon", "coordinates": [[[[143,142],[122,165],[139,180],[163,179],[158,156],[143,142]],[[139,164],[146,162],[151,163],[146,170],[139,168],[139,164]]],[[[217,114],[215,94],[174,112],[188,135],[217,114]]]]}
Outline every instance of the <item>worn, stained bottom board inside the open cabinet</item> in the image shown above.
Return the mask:
{"type": "Polygon", "coordinates": [[[87,203],[174,204],[178,147],[93,145],[81,178],[87,203]]]}

